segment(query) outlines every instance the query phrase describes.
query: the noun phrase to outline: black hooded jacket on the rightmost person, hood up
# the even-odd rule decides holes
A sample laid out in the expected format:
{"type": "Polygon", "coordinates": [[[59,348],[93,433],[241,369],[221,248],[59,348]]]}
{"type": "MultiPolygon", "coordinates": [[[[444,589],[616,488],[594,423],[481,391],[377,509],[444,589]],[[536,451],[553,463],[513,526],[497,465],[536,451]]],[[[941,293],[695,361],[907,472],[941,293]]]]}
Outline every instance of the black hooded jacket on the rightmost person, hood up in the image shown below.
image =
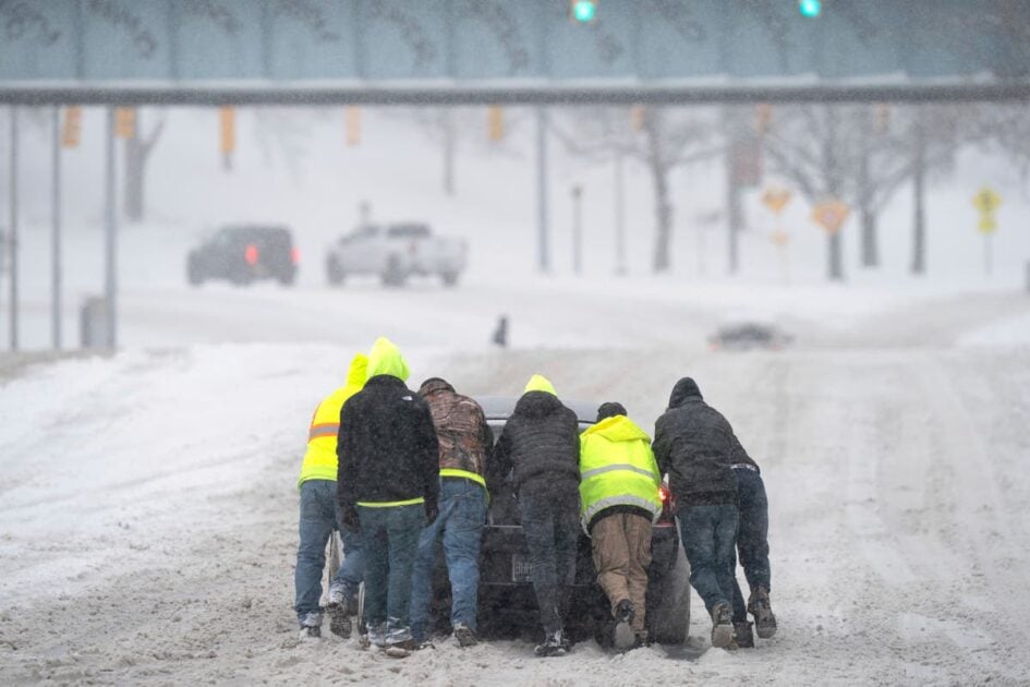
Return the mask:
{"type": "Polygon", "coordinates": [[[654,434],[655,460],[669,473],[679,507],[737,503],[737,477],[729,466],[739,443],[726,418],[704,402],[693,379],[683,377],[672,387],[669,408],[655,422],[654,434]]]}

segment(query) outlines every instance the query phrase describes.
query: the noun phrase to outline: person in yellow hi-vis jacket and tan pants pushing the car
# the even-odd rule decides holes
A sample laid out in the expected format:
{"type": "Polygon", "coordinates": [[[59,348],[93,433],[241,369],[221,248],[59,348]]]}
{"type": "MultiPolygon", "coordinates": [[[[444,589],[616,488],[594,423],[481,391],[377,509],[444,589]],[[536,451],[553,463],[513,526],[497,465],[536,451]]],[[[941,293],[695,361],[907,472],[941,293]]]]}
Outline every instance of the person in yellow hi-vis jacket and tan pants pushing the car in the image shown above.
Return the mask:
{"type": "Polygon", "coordinates": [[[647,640],[651,523],[662,513],[661,484],[651,437],[626,417],[621,403],[603,403],[596,423],[580,435],[580,501],[618,649],[647,640]]]}

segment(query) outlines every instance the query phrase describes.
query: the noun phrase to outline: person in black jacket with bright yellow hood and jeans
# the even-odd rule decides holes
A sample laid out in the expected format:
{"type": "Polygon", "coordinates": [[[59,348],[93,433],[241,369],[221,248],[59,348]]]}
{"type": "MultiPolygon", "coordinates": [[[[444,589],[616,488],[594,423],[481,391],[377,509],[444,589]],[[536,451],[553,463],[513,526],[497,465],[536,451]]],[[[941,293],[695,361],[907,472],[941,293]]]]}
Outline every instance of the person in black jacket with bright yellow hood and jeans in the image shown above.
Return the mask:
{"type": "Polygon", "coordinates": [[[433,417],[404,386],[408,363],[379,338],[368,354],[368,381],[340,413],[338,479],[346,527],[361,529],[365,551],[368,641],[408,655],[411,576],[419,534],[436,519],[439,447],[433,417]]]}

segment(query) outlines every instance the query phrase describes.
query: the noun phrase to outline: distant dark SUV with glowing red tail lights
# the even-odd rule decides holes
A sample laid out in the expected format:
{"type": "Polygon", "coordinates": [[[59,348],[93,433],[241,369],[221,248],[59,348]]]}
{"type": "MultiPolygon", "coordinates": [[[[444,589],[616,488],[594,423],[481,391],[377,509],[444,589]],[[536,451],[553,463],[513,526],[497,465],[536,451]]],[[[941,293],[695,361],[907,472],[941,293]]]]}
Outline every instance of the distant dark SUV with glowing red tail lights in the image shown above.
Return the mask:
{"type": "Polygon", "coordinates": [[[290,286],[296,279],[299,254],[290,230],[272,225],[222,227],[190,251],[186,276],[199,286],[208,279],[228,279],[245,286],[256,279],[276,279],[290,286]]]}

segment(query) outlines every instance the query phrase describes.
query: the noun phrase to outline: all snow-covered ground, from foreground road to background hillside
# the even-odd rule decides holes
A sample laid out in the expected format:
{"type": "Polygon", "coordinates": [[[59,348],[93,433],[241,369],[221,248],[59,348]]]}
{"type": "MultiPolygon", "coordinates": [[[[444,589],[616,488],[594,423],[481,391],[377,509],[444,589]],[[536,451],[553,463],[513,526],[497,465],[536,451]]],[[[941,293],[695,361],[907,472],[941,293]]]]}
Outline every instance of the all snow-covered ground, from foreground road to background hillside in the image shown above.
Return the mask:
{"type": "MultiPolygon", "coordinates": [[[[96,114],[66,158],[70,343],[82,298],[100,287],[96,114]]],[[[121,237],[113,355],[44,352],[48,158],[26,128],[21,324],[35,350],[0,355],[0,683],[1030,683],[1030,232],[1019,229],[1030,208],[991,160],[970,154],[933,192],[925,277],[905,272],[902,193],[883,219],[883,267],[858,267],[852,220],[848,280],[831,286],[825,239],[800,204],[785,218],[795,231],[783,278],[756,194],[743,274],[724,276],[723,233],[703,219],[723,197],[718,168],[674,179],[672,274],[645,274],[652,219],[638,169],[629,276],[609,276],[609,208],[589,204],[586,274],[573,278],[561,189],[577,181],[585,197],[606,198],[610,170],[556,155],[555,269],[541,277],[526,146],[488,160],[462,148],[459,195],[441,198],[438,150],[397,119],[369,114],[353,149],[339,121],[305,133],[282,120],[286,143],[310,148],[304,176],[283,166],[270,134],[255,152],[246,114],[232,173],[218,167],[214,112],[169,117],[149,177],[152,220],[121,237]],[[991,277],[968,202],[987,182],[1005,197],[991,277]],[[453,290],[326,288],[320,250],[362,198],[377,216],[425,217],[469,238],[468,278],[453,290]],[[243,218],[291,222],[298,287],[189,289],[183,260],[204,226],[243,218]],[[507,350],[488,345],[500,314],[507,350]],[[744,318],[796,340],[778,352],[708,350],[720,323],[744,318]],[[441,375],[470,394],[517,394],[541,372],[569,398],[622,401],[645,427],[676,379],[694,376],[763,467],[777,636],[752,651],[710,650],[694,596],[691,641],[678,650],[608,655],[583,643],[536,660],[525,642],[444,641],[396,661],[328,631],[298,642],[295,478],[307,422],[351,354],[379,335],[409,355],[412,384],[441,375]]]]}

